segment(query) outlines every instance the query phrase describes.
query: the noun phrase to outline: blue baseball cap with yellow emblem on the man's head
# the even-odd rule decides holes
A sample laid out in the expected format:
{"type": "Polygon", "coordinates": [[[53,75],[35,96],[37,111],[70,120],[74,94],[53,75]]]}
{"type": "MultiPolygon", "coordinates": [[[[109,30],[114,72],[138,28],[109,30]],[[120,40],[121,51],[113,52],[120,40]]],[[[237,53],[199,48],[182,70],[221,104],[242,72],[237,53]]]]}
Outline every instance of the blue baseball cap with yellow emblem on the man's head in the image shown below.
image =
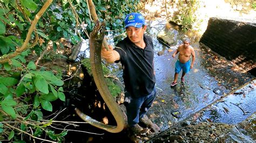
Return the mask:
{"type": "Polygon", "coordinates": [[[145,25],[145,19],[142,14],[133,12],[125,17],[124,24],[125,28],[129,26],[140,28],[142,25],[145,25]]]}

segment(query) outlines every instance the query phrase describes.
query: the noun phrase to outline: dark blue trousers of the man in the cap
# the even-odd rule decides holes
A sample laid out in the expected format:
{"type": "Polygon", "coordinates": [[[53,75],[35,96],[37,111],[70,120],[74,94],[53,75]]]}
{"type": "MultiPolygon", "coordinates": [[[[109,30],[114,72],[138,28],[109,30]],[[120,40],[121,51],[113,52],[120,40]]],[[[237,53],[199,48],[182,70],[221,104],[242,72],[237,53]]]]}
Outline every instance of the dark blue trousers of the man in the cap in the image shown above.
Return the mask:
{"type": "Polygon", "coordinates": [[[149,111],[156,94],[156,87],[154,87],[153,91],[149,95],[137,98],[132,97],[129,92],[125,90],[124,105],[126,107],[126,115],[129,126],[139,123],[139,119],[142,118],[147,111],[149,111]]]}

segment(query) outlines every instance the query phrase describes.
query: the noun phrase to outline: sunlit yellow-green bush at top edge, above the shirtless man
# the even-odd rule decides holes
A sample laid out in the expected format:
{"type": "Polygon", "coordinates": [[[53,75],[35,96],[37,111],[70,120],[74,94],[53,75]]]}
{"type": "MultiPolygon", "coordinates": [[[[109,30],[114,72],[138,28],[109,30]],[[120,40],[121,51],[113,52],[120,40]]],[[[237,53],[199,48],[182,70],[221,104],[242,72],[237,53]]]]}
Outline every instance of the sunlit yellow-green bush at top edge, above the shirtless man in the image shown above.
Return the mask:
{"type": "Polygon", "coordinates": [[[194,14],[199,7],[199,1],[179,1],[177,4],[178,11],[174,13],[171,20],[178,25],[181,25],[183,31],[192,28],[192,25],[197,22],[197,17],[194,14]]]}

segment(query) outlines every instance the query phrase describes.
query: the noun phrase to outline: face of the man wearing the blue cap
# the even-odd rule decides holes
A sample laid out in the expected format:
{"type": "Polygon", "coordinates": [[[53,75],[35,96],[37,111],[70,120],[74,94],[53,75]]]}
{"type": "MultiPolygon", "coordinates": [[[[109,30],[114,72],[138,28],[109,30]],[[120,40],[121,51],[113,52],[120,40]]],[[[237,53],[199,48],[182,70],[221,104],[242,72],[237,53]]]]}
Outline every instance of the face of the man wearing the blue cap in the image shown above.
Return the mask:
{"type": "Polygon", "coordinates": [[[129,39],[134,43],[139,43],[143,40],[143,34],[146,31],[146,25],[144,27],[136,28],[129,26],[126,28],[129,39]]]}

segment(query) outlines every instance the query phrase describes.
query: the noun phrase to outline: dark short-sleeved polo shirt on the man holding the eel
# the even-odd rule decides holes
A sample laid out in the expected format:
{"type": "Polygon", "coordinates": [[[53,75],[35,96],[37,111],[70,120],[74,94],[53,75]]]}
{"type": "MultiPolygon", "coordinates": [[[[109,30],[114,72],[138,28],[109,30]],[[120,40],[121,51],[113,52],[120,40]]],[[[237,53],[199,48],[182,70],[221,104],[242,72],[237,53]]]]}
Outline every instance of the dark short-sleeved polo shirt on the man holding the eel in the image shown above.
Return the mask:
{"type": "Polygon", "coordinates": [[[153,58],[154,49],[151,37],[144,34],[146,47],[139,48],[126,37],[114,48],[119,55],[123,66],[123,78],[126,90],[132,97],[149,95],[156,83],[154,76],[153,58]]]}

